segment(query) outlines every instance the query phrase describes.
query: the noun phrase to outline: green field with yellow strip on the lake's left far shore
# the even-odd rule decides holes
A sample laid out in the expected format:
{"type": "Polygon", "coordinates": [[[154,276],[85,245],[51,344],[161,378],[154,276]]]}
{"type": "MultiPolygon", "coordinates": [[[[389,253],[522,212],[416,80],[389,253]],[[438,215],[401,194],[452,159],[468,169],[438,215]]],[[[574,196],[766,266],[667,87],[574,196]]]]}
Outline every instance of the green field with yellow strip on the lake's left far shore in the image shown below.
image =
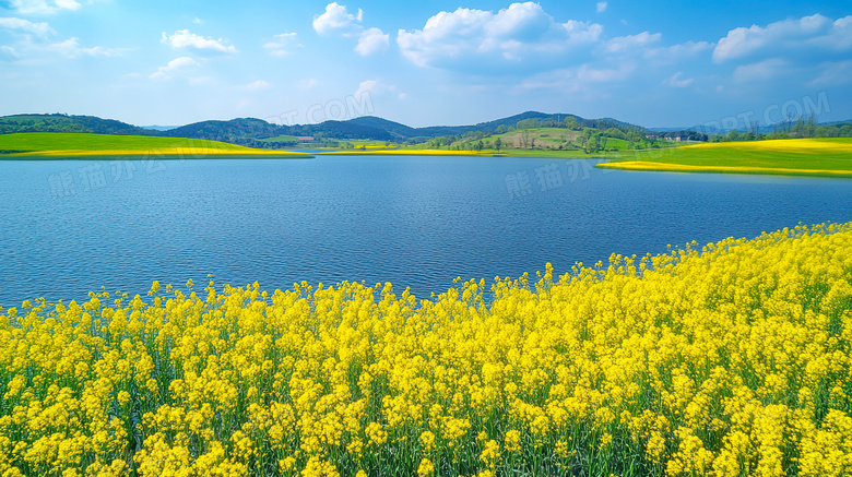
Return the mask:
{"type": "Polygon", "coordinates": [[[27,132],[0,134],[0,158],[76,158],[108,156],[203,158],[210,156],[310,157],[309,154],[257,150],[218,141],[140,135],[27,132]]]}

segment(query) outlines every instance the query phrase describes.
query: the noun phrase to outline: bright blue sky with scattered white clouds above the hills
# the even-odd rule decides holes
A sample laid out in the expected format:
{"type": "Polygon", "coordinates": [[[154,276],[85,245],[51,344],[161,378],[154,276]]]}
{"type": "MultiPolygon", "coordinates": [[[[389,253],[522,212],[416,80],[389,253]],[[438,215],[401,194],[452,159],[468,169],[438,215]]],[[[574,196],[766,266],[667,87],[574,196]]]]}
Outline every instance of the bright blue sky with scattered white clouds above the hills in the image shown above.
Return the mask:
{"type": "Polygon", "coordinates": [[[0,1],[0,115],[852,119],[849,1],[0,1]]]}

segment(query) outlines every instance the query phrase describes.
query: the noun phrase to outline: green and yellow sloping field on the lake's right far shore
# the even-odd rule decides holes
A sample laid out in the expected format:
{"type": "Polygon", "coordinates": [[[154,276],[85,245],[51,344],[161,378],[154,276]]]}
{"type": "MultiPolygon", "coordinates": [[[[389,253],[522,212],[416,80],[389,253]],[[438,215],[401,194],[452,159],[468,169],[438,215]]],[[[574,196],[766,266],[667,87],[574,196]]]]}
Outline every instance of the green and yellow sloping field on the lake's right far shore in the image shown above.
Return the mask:
{"type": "Polygon", "coordinates": [[[597,167],[681,172],[852,177],[852,139],[703,143],[617,154],[597,167]]]}

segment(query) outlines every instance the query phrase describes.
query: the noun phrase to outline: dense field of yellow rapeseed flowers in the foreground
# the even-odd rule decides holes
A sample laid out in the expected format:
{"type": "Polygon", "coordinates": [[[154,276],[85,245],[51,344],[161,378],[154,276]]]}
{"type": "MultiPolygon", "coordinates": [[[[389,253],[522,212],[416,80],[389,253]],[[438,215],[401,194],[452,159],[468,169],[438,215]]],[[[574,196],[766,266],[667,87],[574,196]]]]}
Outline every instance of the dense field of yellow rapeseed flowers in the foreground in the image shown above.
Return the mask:
{"type": "Polygon", "coordinates": [[[0,311],[0,476],[852,474],[852,224],[0,311]]]}

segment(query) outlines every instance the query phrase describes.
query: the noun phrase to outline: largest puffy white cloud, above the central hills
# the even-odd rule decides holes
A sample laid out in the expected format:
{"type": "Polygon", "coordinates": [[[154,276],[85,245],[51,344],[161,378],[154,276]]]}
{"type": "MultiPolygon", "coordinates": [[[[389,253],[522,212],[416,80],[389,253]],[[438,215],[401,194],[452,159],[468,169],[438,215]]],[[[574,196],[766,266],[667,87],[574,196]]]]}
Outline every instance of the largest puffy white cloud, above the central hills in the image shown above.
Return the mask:
{"type": "Polygon", "coordinates": [[[577,46],[599,41],[596,23],[556,22],[539,3],[512,3],[497,13],[476,9],[439,12],[423,29],[400,29],[402,55],[421,67],[551,63],[577,46]]]}

